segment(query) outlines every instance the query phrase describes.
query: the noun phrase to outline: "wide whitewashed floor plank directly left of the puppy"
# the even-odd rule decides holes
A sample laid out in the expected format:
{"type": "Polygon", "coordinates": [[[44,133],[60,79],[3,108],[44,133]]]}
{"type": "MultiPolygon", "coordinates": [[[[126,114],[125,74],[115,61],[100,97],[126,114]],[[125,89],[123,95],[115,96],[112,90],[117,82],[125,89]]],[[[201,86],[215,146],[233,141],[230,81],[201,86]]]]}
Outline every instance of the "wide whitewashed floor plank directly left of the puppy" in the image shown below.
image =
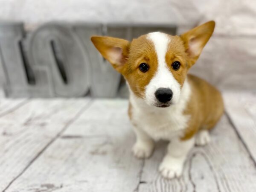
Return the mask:
{"type": "Polygon", "coordinates": [[[6,192],[132,192],[142,160],[127,100],[96,100],[6,192]]]}

